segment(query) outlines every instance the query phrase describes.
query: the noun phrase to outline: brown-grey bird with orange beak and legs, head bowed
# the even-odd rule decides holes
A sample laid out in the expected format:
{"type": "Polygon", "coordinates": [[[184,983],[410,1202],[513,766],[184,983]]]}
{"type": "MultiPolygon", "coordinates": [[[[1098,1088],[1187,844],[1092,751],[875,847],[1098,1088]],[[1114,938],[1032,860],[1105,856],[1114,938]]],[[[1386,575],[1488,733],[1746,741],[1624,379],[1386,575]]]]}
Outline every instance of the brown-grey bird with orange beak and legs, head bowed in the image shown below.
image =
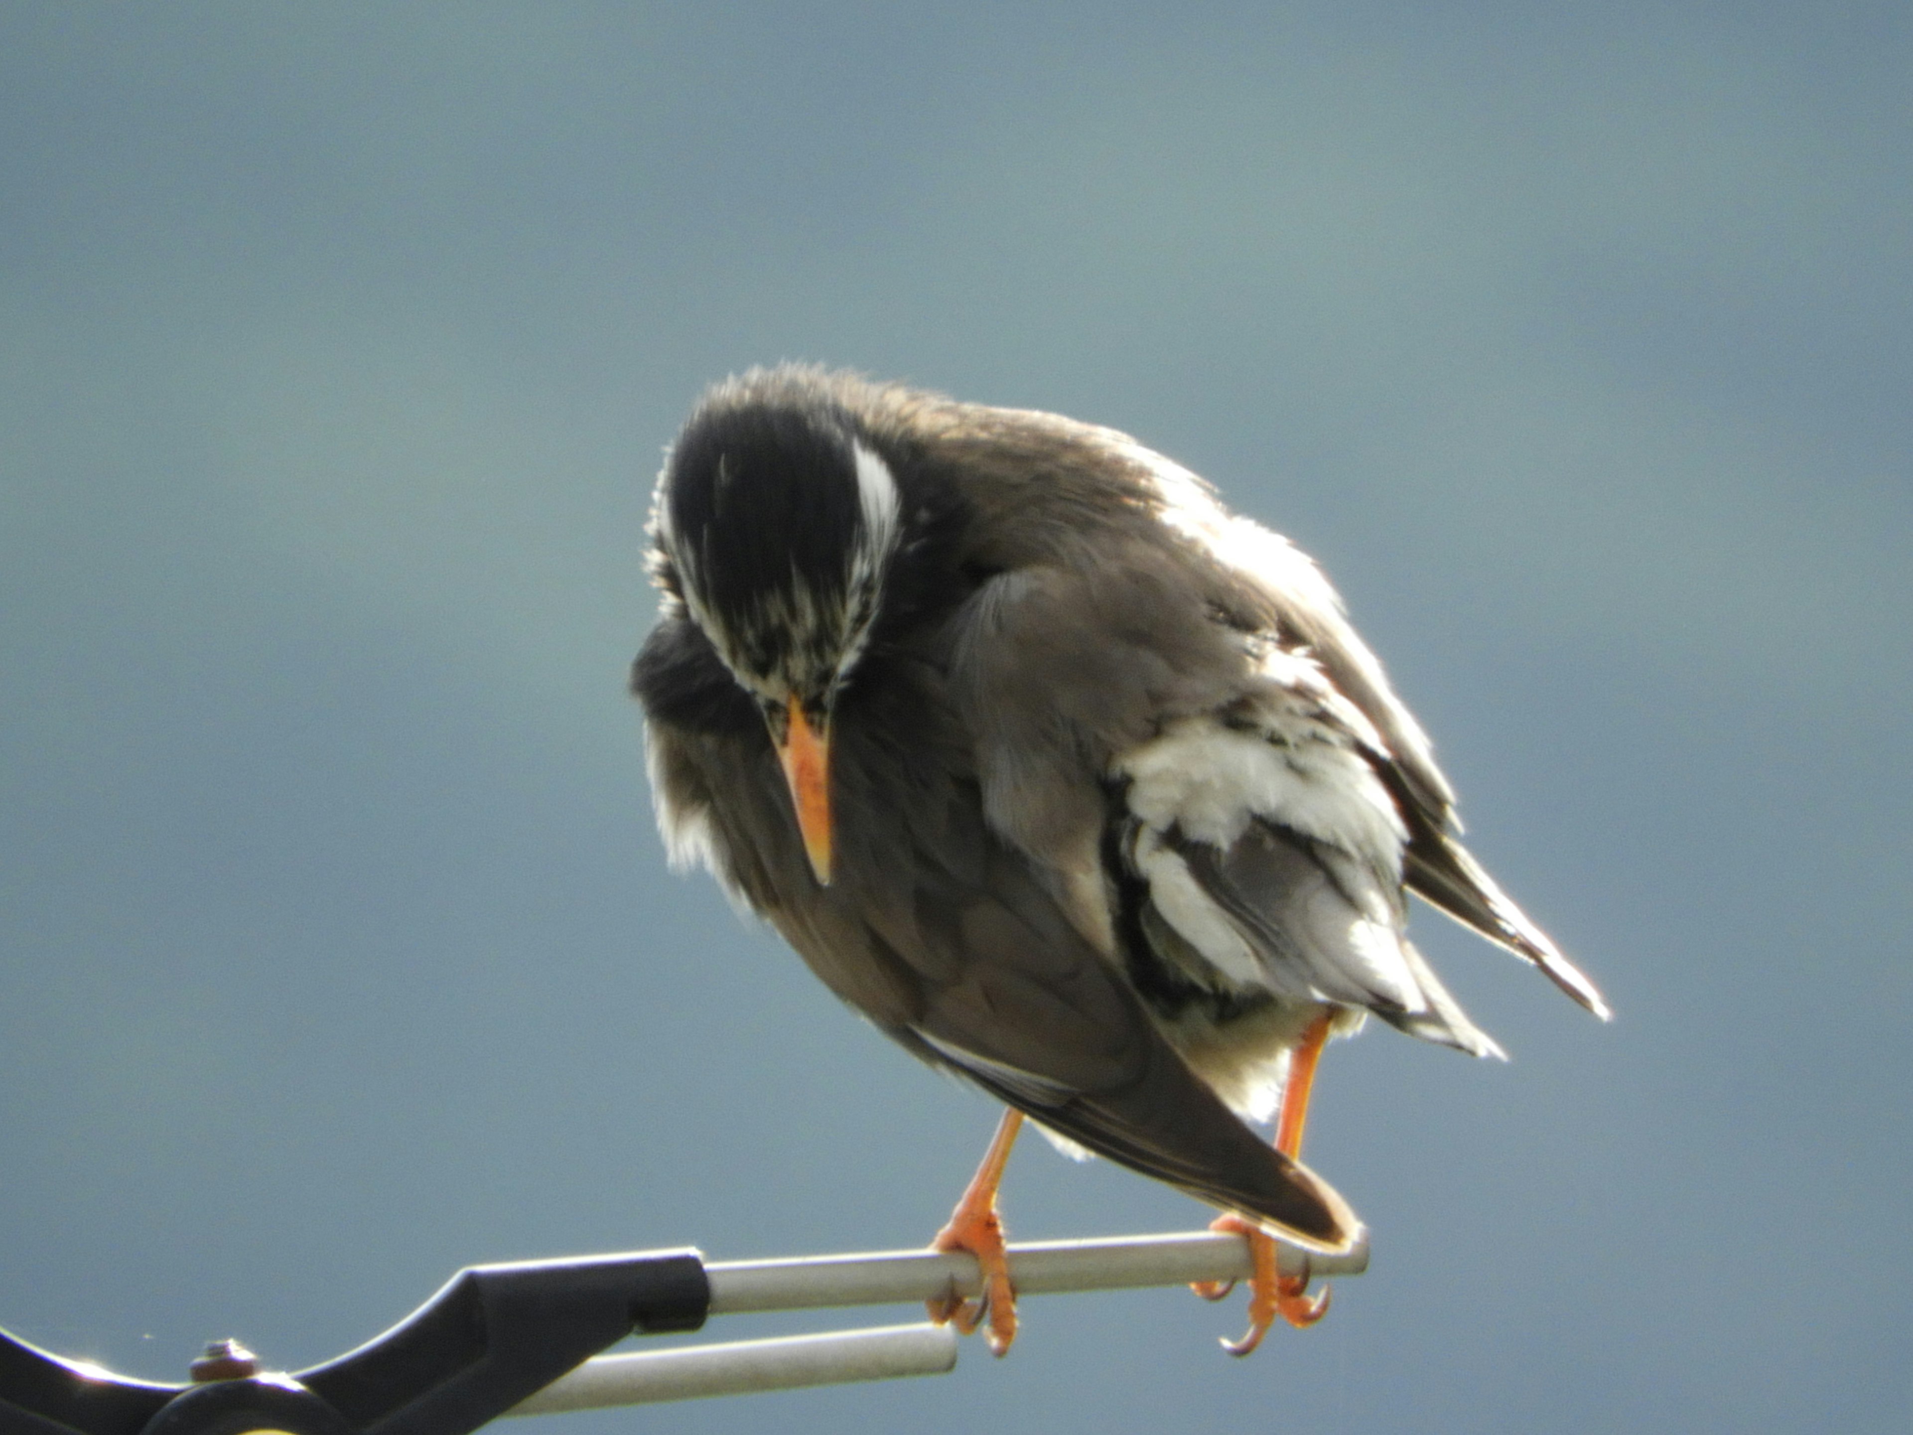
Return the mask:
{"type": "MultiPolygon", "coordinates": [[[[1027,1115],[1219,1207],[1255,1349],[1347,1251],[1301,1163],[1316,1060],[1368,1016],[1500,1056],[1408,894],[1594,983],[1460,842],[1429,739],[1293,543],[1113,429],[805,364],[733,375],[666,452],[631,670],[666,853],[855,1012],[1006,1112],[937,1249],[1016,1336],[997,1188],[1027,1115]],[[1255,1123],[1274,1117],[1274,1140],[1255,1123]]],[[[1198,1288],[1220,1297],[1226,1288],[1198,1288]]]]}

